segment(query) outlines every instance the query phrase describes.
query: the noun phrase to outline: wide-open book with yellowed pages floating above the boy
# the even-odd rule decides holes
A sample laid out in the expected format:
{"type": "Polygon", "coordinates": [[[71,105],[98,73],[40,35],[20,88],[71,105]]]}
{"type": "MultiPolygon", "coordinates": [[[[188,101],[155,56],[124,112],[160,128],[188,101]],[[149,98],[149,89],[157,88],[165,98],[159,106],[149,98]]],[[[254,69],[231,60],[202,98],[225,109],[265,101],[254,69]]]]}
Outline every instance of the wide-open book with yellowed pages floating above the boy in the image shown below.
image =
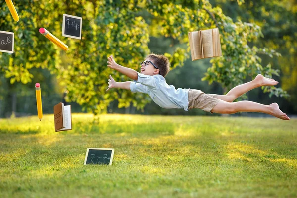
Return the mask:
{"type": "Polygon", "coordinates": [[[222,56],[219,28],[189,32],[192,61],[222,56]]]}

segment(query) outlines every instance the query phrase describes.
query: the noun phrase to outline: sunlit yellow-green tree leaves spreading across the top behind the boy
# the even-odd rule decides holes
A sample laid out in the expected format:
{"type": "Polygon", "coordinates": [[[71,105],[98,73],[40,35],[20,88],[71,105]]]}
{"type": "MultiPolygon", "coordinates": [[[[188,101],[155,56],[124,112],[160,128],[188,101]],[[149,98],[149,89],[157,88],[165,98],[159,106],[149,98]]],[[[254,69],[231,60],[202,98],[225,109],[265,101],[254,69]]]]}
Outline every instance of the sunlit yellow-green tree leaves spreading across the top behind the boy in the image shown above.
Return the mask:
{"type": "MultiPolygon", "coordinates": [[[[106,93],[109,74],[116,81],[129,80],[107,68],[107,56],[113,54],[117,63],[139,70],[139,63],[150,52],[149,36],[170,37],[188,45],[188,32],[219,27],[223,56],[211,60],[212,67],[204,80],[218,81],[227,89],[242,83],[247,76],[263,72],[278,74],[277,70],[261,66],[256,54],[263,49],[248,46],[262,36],[260,27],[240,20],[233,22],[208,0],[24,0],[16,3],[19,23],[12,20],[7,6],[1,5],[0,29],[15,32],[15,53],[0,54],[0,65],[3,65],[0,71],[10,78],[10,83],[28,83],[34,78],[31,68],[47,68],[69,91],[68,101],[76,101],[95,114],[106,112],[113,100],[119,101],[119,107],[132,103],[137,108],[143,108],[150,101],[148,96],[133,95],[127,90],[106,93]],[[83,18],[82,40],[60,36],[64,13],[83,18]],[[69,52],[58,49],[39,34],[39,27],[65,42],[69,52]]],[[[165,55],[175,68],[183,65],[189,50],[188,45],[187,49],[175,48],[173,53],[165,55]]],[[[265,53],[275,54],[270,49],[265,53]]],[[[278,93],[286,95],[281,89],[278,93]]]]}

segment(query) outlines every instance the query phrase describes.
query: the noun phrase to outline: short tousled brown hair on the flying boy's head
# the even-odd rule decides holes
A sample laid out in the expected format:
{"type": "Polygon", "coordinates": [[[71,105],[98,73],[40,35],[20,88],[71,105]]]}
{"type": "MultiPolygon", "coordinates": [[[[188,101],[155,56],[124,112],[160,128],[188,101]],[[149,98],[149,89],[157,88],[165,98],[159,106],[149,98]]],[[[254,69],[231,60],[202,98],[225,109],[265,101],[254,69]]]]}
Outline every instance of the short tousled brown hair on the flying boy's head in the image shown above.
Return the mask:
{"type": "Polygon", "coordinates": [[[159,68],[160,75],[163,77],[165,77],[170,71],[170,62],[166,56],[151,53],[146,57],[146,59],[147,58],[151,59],[152,62],[159,68]]]}

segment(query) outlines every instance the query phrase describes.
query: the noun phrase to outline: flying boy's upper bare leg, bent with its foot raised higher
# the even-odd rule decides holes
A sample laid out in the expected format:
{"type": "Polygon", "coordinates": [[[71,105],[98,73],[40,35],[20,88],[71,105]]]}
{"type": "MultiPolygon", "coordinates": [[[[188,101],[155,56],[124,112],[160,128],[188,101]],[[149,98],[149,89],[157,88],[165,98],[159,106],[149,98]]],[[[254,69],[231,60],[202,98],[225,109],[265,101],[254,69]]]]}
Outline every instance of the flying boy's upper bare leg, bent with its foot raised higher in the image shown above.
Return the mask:
{"type": "Polygon", "coordinates": [[[274,79],[266,78],[263,75],[258,74],[252,81],[234,87],[226,95],[216,95],[216,97],[227,102],[233,102],[233,100],[254,88],[276,84],[278,84],[278,82],[274,79]]]}

